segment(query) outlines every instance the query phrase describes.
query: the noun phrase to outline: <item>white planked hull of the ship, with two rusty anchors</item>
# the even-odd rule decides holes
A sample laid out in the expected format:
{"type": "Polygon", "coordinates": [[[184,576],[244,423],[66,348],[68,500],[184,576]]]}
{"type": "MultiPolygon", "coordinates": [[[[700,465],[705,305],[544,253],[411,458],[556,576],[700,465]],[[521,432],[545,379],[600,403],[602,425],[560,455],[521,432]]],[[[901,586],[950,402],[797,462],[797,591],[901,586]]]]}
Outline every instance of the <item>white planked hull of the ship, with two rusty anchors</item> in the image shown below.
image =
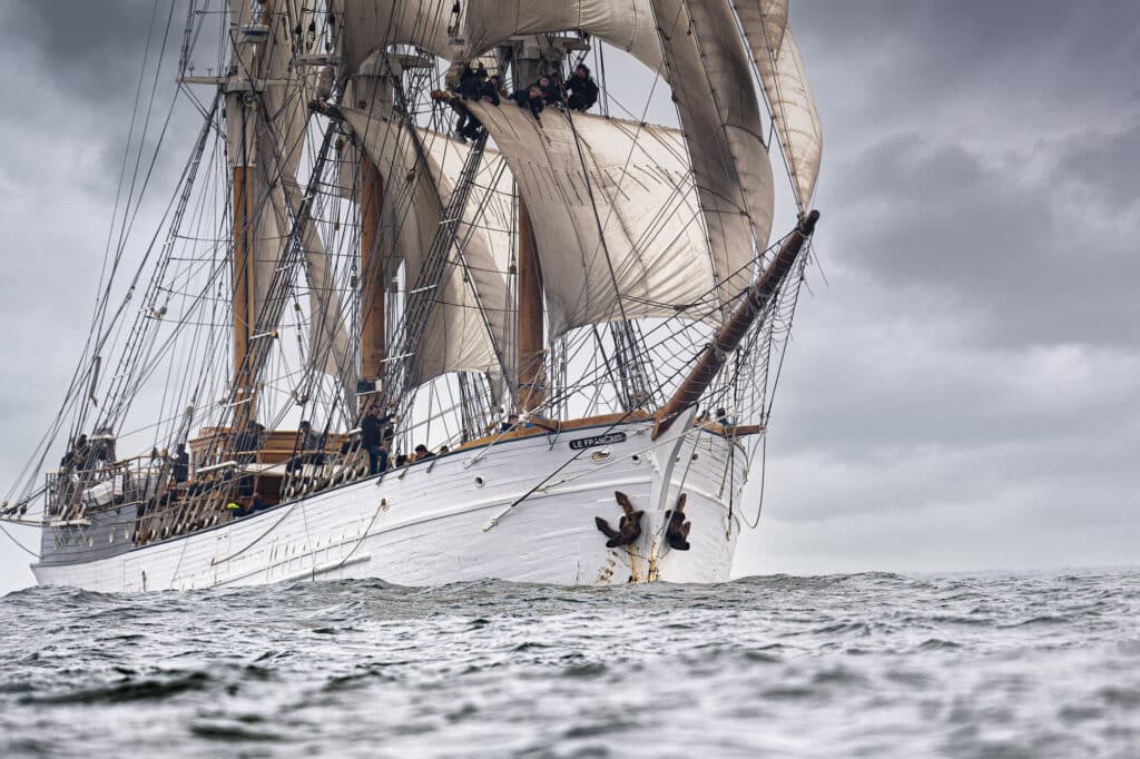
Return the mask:
{"type": "Polygon", "coordinates": [[[744,456],[739,447],[732,455],[730,440],[707,433],[653,443],[651,429],[638,422],[461,451],[116,556],[32,569],[41,585],[99,591],[349,578],[408,586],[483,578],[560,585],[726,580],[740,531],[744,456]],[[625,432],[626,440],[585,451],[569,446],[610,430],[625,432]],[[596,460],[603,451],[609,456],[596,460]],[[645,515],[636,542],[610,549],[594,517],[617,527],[616,490],[645,515]],[[665,512],[681,491],[692,524],[687,552],[665,540],[665,512]]]}

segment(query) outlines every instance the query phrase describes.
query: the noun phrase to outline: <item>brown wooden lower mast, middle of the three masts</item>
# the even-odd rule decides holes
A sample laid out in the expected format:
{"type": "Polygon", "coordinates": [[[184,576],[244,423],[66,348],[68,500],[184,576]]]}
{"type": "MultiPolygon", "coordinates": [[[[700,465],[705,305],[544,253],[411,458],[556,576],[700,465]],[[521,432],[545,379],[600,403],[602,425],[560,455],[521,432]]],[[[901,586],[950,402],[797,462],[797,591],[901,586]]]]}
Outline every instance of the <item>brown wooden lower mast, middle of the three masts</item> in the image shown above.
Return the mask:
{"type": "Polygon", "coordinates": [[[384,180],[367,157],[360,157],[360,377],[384,373],[384,251],[380,244],[380,214],[384,180]]]}

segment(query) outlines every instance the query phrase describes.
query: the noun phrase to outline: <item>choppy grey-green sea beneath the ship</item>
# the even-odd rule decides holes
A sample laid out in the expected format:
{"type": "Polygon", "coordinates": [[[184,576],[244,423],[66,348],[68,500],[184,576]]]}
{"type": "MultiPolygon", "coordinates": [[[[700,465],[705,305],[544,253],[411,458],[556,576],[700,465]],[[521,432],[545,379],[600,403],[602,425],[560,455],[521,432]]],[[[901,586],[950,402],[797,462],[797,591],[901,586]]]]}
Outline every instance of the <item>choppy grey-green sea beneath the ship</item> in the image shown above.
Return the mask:
{"type": "Polygon", "coordinates": [[[1140,571],[0,598],[0,756],[1140,757],[1140,571]]]}

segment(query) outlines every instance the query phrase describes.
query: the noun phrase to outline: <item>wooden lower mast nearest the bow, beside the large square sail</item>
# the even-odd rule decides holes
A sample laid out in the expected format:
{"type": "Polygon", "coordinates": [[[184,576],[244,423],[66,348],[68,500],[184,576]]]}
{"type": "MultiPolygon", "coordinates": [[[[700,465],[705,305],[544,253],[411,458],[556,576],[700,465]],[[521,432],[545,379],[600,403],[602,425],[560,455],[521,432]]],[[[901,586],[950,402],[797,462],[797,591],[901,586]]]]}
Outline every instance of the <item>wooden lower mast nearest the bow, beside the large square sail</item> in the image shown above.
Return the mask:
{"type": "Polygon", "coordinates": [[[527,204],[519,196],[519,407],[532,411],[546,400],[543,351],[543,270],[527,204]]]}

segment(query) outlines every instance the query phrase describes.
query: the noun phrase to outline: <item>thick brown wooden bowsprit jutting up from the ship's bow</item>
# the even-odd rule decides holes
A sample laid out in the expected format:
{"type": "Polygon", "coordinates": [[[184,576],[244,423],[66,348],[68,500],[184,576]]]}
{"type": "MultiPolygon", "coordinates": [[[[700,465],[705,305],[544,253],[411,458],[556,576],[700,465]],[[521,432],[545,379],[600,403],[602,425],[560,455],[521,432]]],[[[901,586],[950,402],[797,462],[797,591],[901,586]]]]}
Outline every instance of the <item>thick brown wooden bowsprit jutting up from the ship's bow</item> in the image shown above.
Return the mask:
{"type": "Polygon", "coordinates": [[[799,252],[804,248],[804,243],[815,231],[815,222],[819,219],[819,211],[812,211],[801,218],[796,231],[791,234],[783,244],[783,247],[780,248],[776,258],[760,274],[760,277],[752,283],[752,286],[748,288],[744,300],[741,301],[732,317],[720,327],[716,337],[705,349],[705,352],[701,353],[697,364],[689,372],[689,376],[681,383],[668,402],[654,415],[657,424],[653,426],[653,440],[657,440],[673,426],[673,423],[677,421],[681,413],[690,408],[693,403],[697,403],[705,391],[708,390],[708,386],[712,384],[712,381],[724,367],[725,361],[728,360],[728,356],[740,346],[741,341],[744,340],[744,335],[748,334],[752,324],[756,323],[756,319],[772,303],[772,299],[775,297],[780,286],[783,285],[791,272],[796,259],[799,258],[799,252]]]}

